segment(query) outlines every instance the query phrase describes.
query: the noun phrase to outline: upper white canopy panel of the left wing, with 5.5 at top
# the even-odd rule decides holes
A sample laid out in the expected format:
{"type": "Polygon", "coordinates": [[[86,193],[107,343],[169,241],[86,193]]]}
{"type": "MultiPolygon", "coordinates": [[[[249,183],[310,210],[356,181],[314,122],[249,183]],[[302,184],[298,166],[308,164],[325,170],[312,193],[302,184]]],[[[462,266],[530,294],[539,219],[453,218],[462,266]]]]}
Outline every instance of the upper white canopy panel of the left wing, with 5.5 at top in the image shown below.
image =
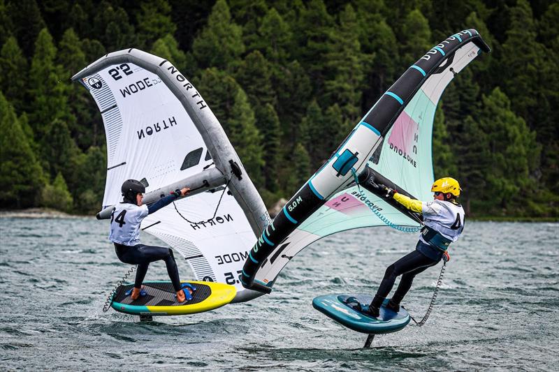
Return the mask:
{"type": "MultiPolygon", "coordinates": [[[[145,179],[146,192],[201,172],[208,150],[173,92],[154,73],[131,63],[108,66],[82,79],[103,116],[108,171],[103,207],[122,200],[126,179],[145,179]],[[201,149],[198,164],[183,169],[201,149]]],[[[211,162],[210,162],[211,163],[211,162]]]]}

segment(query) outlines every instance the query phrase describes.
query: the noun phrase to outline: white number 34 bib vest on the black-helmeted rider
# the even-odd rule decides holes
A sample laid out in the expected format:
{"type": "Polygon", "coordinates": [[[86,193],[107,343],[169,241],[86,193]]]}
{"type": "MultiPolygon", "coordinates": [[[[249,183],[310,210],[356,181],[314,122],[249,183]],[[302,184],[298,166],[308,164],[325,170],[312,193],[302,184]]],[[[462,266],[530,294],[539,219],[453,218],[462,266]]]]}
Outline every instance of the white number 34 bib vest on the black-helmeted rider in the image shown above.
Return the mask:
{"type": "Polygon", "coordinates": [[[109,240],[124,246],[140,244],[140,223],[149,211],[147,205],[119,203],[110,215],[109,240]]]}

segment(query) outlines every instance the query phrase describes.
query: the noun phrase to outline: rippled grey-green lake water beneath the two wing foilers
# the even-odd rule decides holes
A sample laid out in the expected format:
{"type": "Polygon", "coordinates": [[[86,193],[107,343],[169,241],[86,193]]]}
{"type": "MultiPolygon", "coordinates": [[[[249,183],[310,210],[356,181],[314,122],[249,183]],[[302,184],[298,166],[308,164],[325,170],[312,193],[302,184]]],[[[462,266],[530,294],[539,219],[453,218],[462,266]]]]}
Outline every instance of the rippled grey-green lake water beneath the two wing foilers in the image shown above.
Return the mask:
{"type": "MultiPolygon", "coordinates": [[[[101,311],[130,267],[107,229],[94,218],[0,218],[0,369],[559,370],[558,223],[467,223],[426,325],[377,336],[370,349],[312,298],[373,292],[416,235],[370,228],[327,237],[293,258],[270,295],[139,322],[101,311]]],[[[416,318],[439,272],[418,276],[406,297],[416,318]]],[[[147,279],[166,278],[163,262],[150,266],[147,279]]]]}

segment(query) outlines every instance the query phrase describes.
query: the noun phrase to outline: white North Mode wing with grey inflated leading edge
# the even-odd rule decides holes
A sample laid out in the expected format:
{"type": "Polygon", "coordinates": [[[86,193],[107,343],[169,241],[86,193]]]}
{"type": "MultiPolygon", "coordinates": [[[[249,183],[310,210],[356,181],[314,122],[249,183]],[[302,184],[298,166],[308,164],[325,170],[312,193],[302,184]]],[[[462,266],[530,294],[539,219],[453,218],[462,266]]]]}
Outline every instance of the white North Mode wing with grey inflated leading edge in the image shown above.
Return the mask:
{"type": "Polygon", "coordinates": [[[143,230],[183,255],[196,280],[235,285],[233,302],[259,295],[237,277],[270,218],[196,88],[169,61],[135,49],[107,54],[73,80],[92,94],[106,131],[107,180],[98,218],[108,218],[122,200],[126,179],[145,184],[147,204],[189,187],[187,198],[147,216],[143,230]]]}

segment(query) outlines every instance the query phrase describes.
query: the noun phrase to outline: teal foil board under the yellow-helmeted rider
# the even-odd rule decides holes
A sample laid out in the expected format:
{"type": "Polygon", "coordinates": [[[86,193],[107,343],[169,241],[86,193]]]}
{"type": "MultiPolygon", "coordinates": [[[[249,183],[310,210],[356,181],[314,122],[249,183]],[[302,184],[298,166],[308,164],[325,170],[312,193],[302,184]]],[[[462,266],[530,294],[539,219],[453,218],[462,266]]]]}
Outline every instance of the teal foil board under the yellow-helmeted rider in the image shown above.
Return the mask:
{"type": "Polygon", "coordinates": [[[366,305],[372,301],[370,295],[324,295],[314,297],[312,306],[341,325],[366,334],[397,332],[409,323],[409,314],[405,309],[400,307],[400,311],[395,313],[384,307],[388,300],[380,308],[379,318],[372,318],[347,305],[345,301],[349,297],[355,297],[366,305]]]}

